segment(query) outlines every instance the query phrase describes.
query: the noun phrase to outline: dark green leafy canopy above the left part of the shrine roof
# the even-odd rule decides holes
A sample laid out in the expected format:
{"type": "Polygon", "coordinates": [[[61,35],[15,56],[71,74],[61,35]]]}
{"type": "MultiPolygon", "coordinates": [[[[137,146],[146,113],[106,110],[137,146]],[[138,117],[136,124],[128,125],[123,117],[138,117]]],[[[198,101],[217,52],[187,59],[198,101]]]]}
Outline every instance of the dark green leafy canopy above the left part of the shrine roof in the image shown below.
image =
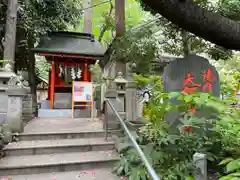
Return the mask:
{"type": "Polygon", "coordinates": [[[22,26],[36,35],[47,31],[66,30],[75,26],[81,16],[81,0],[20,1],[22,26]]]}

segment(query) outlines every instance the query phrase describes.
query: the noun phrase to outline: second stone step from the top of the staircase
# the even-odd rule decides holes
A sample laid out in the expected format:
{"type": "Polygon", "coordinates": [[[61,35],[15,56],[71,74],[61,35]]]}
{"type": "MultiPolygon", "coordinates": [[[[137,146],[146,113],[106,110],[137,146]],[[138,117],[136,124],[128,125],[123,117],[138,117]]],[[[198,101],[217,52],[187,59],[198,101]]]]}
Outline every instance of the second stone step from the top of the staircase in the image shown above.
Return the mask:
{"type": "Polygon", "coordinates": [[[113,149],[114,141],[110,138],[107,141],[105,141],[104,138],[84,138],[19,141],[8,144],[4,148],[4,153],[6,156],[20,156],[113,149]]]}

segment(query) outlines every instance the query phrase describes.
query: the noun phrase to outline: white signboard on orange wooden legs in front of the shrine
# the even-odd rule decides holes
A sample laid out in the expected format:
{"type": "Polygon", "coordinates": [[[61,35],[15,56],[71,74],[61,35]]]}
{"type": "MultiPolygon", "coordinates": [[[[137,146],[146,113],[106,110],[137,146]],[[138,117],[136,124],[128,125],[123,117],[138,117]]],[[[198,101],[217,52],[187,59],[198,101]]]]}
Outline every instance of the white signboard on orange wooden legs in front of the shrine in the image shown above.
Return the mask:
{"type": "Polygon", "coordinates": [[[72,83],[72,118],[74,118],[75,107],[90,106],[91,119],[93,120],[93,91],[91,82],[73,81],[72,83]],[[75,104],[83,102],[86,104],[75,104]]]}

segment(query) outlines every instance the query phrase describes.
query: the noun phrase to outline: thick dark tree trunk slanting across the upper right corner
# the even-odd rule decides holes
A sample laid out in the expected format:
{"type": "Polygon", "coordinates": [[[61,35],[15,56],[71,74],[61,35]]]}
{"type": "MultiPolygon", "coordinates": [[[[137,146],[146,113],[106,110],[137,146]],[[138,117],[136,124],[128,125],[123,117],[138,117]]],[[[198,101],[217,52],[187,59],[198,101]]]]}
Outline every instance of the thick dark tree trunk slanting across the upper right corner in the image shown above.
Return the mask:
{"type": "Polygon", "coordinates": [[[192,0],[141,0],[151,9],[199,37],[227,49],[240,50],[240,24],[209,12],[192,0]]]}

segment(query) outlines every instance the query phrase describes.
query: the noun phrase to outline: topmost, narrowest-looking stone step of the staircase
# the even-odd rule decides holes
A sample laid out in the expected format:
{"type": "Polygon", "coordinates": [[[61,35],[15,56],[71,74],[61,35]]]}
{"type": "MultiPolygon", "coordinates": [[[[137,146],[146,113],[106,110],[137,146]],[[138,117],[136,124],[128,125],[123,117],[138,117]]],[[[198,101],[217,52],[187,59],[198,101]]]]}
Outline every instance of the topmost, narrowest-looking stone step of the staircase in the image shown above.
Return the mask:
{"type": "MultiPolygon", "coordinates": [[[[20,141],[51,140],[51,139],[79,139],[79,138],[98,138],[104,137],[105,132],[99,131],[62,131],[62,132],[40,132],[40,133],[22,133],[19,135],[20,141]]],[[[122,130],[109,130],[108,135],[122,135],[122,130]]]]}

